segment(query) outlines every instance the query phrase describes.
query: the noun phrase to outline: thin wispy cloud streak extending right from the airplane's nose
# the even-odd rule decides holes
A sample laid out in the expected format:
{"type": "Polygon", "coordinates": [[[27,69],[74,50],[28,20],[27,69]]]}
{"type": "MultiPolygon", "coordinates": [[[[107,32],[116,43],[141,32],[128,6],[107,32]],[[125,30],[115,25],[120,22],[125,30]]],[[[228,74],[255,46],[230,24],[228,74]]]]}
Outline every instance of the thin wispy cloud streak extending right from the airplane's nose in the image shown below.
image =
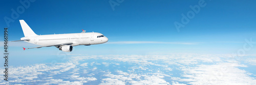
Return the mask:
{"type": "Polygon", "coordinates": [[[202,42],[155,42],[155,41],[117,41],[117,42],[108,42],[106,44],[200,44],[202,42]]]}

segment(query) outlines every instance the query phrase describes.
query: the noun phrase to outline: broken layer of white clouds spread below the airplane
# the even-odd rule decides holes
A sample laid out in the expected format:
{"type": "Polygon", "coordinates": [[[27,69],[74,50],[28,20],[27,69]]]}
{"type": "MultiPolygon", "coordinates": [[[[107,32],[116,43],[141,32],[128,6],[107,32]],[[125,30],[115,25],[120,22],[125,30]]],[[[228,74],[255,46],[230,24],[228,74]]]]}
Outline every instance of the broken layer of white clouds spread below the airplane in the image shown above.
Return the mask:
{"type": "Polygon", "coordinates": [[[1,77],[0,84],[256,83],[253,71],[241,69],[256,63],[255,57],[247,56],[234,60],[230,54],[72,55],[68,60],[10,67],[9,81],[1,77]]]}

